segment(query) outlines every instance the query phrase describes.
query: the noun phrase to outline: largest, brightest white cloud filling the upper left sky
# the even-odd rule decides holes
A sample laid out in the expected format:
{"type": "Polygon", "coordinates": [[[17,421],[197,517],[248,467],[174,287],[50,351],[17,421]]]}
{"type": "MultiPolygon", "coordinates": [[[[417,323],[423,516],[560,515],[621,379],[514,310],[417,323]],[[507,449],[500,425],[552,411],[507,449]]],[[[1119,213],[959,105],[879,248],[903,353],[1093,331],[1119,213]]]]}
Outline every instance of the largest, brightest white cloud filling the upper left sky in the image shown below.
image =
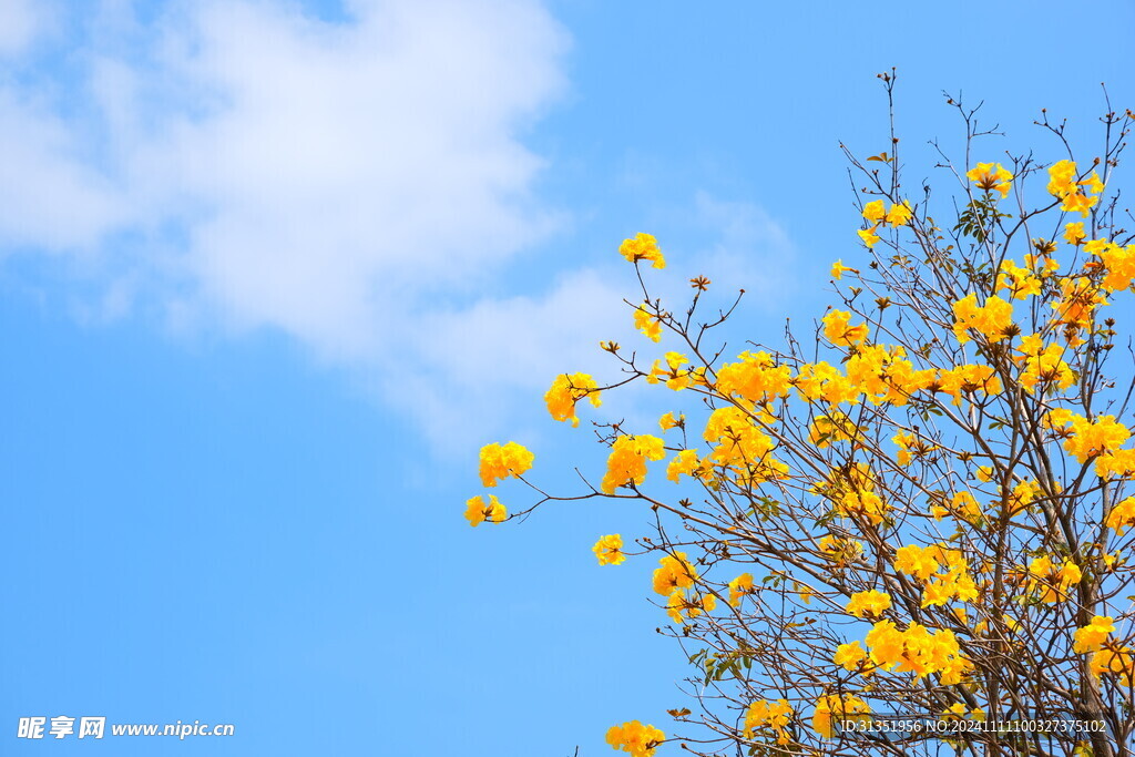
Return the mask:
{"type": "Polygon", "coordinates": [[[120,269],[120,235],[146,235],[140,264],[195,293],[180,308],[333,359],[372,353],[418,297],[471,288],[554,221],[520,136],[564,87],[566,35],[528,0],[348,10],[201,2],[140,26],[104,6],[77,93],[0,92],[19,145],[0,169],[7,246],[120,269]]]}

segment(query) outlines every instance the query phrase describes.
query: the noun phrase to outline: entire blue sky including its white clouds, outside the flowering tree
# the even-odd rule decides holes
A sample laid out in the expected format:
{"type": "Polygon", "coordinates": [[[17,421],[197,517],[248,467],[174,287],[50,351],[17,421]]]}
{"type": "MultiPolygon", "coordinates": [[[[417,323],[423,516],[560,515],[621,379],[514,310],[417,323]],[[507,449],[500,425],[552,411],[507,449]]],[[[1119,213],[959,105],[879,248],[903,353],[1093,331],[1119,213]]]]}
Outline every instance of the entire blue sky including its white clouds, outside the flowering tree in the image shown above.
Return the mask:
{"type": "MultiPolygon", "coordinates": [[[[623,503],[472,530],[477,451],[562,490],[541,396],[634,343],[621,239],[742,338],[858,254],[840,141],[947,182],[941,92],[1032,126],[1135,103],[1129,3],[0,1],[0,751],[611,754],[690,703],[623,503]],[[233,723],[33,742],[22,716],[233,723]]],[[[1046,152],[1048,151],[1048,152],[1046,152]]],[[[957,152],[955,153],[957,154],[957,152]]],[[[669,288],[667,288],[669,287],[669,288]]],[[[645,347],[646,345],[639,345],[645,347]]],[[[605,405],[600,419],[653,418],[605,405]]],[[[653,422],[653,421],[651,421],[653,422]]],[[[510,504],[524,493],[504,488],[510,504]]]]}

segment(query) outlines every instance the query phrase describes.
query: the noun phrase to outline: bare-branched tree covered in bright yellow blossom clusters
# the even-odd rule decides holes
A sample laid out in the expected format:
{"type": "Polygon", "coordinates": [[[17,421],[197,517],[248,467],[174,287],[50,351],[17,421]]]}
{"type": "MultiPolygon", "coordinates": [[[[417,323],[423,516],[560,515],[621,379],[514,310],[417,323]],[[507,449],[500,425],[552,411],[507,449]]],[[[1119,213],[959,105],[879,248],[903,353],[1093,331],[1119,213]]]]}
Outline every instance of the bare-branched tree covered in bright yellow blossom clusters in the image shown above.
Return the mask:
{"type": "MultiPolygon", "coordinates": [[[[659,558],[653,589],[700,714],[670,712],[687,735],[613,726],[615,749],[1133,754],[1135,353],[1109,309],[1135,289],[1112,190],[1135,117],[1109,106],[1090,166],[1046,117],[1058,159],[1002,165],[970,161],[991,132],[948,103],[966,129],[962,166],[939,151],[950,221],[928,187],[905,191],[893,118],[888,151],[844,150],[864,260],[834,263],[838,303],[814,331],[726,356],[715,339],[738,302],[705,319],[701,277],[670,310],[649,288],[663,253],[639,234],[620,249],[642,289],[628,304],[674,346],[645,364],[600,343],[625,379],[560,376],[547,406],[578,424],[580,401],[646,381],[683,411],[657,435],[595,422],[607,470],[571,496],[524,477],[521,445],[482,449],[486,486],[536,493],[513,516],[590,497],[649,507],[637,550],[620,535],[594,549],[600,564],[659,558]],[[669,482],[648,474],[664,459],[669,482]]],[[[466,516],[510,518],[495,497],[466,516]]]]}

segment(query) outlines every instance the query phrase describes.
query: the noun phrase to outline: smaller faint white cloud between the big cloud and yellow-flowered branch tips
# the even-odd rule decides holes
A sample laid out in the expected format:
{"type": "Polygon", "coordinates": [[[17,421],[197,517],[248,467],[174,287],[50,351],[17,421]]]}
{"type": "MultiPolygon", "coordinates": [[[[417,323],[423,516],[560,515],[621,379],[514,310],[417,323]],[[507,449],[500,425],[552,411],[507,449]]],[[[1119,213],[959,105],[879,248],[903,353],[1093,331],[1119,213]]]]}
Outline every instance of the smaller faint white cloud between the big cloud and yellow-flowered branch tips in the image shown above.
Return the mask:
{"type": "Polygon", "coordinates": [[[512,431],[519,414],[544,419],[543,396],[555,376],[617,378],[617,362],[598,342],[629,340],[624,294],[612,277],[580,270],[535,296],[423,316],[401,345],[411,359],[385,372],[385,394],[414,407],[435,445],[454,451],[512,431]]]}

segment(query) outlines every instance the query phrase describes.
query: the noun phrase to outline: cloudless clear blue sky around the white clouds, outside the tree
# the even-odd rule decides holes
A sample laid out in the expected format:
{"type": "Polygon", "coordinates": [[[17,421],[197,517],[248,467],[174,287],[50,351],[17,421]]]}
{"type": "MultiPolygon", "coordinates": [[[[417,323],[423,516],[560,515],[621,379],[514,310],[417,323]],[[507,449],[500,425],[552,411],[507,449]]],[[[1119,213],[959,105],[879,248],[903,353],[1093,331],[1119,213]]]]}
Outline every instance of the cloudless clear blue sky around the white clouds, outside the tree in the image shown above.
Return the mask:
{"type": "MultiPolygon", "coordinates": [[[[137,5],[142,24],[168,10],[137,5]]],[[[536,297],[603,269],[638,230],[679,271],[697,268],[690,256],[722,238],[696,211],[708,193],[762,209],[794,251],[788,296],[739,316],[755,339],[818,313],[831,261],[860,254],[838,144],[886,149],[876,73],[899,68],[913,186],[945,180],[926,140],[959,143],[942,90],[986,101],[1010,134],[990,143],[994,160],[1015,145],[1062,157],[1031,125],[1041,107],[1095,154],[1101,82],[1135,104],[1129,45],[1108,33],[1135,28],[1126,2],[547,8],[571,39],[568,87],[520,138],[546,160],[535,195],[569,220],[518,253],[494,294],[536,297]]],[[[335,3],[301,11],[352,23],[335,3]]],[[[54,76],[66,60],[65,91],[83,66],[66,50],[89,34],[72,12],[69,32],[19,64],[54,76]]],[[[609,271],[634,296],[631,272],[609,271]]],[[[278,329],[175,338],[144,314],[76,318],[68,303],[87,286],[34,243],[0,255],[0,752],[600,755],[609,725],[669,731],[664,708],[690,705],[681,651],[655,633],[650,561],[600,569],[590,552],[600,533],[645,533],[647,513],[560,505],[472,530],[477,447],[496,437],[455,429],[461,441],[438,447],[351,365],[278,329]],[[15,738],[27,715],[237,735],[28,742],[15,738]]],[[[538,390],[508,401],[502,432],[535,429],[508,438],[533,445],[541,481],[570,490],[574,455],[598,464],[579,453],[586,429],[555,426],[538,390]]]]}

